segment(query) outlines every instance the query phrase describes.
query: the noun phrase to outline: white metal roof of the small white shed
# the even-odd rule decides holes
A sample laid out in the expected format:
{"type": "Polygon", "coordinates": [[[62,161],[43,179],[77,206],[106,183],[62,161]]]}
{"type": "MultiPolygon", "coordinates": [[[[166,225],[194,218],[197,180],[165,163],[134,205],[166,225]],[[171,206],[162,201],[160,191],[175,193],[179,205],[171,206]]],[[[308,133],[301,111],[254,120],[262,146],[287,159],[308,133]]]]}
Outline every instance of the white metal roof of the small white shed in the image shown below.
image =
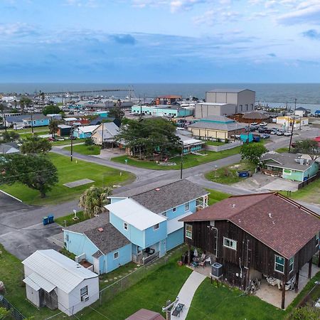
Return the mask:
{"type": "MultiPolygon", "coordinates": [[[[26,260],[23,260],[22,263],[66,293],[75,289],[84,279],[98,277],[94,272],[85,269],[85,267],[53,249],[38,250],[27,257],[26,260]]],[[[43,282],[40,282],[40,278],[37,279],[39,281],[38,285],[43,284],[43,282]]]]}

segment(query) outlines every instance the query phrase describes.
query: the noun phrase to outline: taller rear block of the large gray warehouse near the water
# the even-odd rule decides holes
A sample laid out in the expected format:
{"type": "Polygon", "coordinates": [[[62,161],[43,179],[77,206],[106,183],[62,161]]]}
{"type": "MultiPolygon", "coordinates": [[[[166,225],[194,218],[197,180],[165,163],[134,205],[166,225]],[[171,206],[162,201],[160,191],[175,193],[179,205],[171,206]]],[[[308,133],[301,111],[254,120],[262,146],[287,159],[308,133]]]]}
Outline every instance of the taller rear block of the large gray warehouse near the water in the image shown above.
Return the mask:
{"type": "MultiPolygon", "coordinates": [[[[235,113],[250,112],[255,109],[255,91],[249,89],[216,89],[206,92],[206,102],[235,105],[235,113]]],[[[223,107],[221,108],[223,110],[223,107]]],[[[209,115],[225,115],[208,114],[209,115]]],[[[230,114],[227,114],[230,115],[230,114]]],[[[206,117],[206,116],[203,116],[206,117]]]]}

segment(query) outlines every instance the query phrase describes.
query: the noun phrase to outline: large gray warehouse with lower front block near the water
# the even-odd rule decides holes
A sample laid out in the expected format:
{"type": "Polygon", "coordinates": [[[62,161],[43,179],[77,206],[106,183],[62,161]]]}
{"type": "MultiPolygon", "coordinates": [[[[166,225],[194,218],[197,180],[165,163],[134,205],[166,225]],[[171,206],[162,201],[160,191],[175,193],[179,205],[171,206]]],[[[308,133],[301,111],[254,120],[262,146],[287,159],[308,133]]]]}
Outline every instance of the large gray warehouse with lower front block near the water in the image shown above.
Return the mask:
{"type": "Polygon", "coordinates": [[[229,116],[255,109],[255,91],[248,89],[217,89],[206,92],[206,103],[196,105],[196,118],[229,116]]]}

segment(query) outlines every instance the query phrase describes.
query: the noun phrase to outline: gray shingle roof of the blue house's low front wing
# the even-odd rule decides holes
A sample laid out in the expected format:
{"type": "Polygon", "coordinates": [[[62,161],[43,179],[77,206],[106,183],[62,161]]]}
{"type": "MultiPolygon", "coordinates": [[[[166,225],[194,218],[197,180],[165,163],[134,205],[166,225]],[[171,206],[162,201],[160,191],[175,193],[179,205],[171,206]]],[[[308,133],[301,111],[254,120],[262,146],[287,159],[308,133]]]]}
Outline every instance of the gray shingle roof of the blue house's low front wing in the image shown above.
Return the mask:
{"type": "MultiPolygon", "coordinates": [[[[131,243],[122,233],[120,233],[111,223],[101,225],[103,231],[98,228],[85,231],[85,235],[89,238],[99,250],[107,255],[107,253],[129,245],[131,243]]],[[[97,253],[97,252],[96,252],[97,253]]]]}

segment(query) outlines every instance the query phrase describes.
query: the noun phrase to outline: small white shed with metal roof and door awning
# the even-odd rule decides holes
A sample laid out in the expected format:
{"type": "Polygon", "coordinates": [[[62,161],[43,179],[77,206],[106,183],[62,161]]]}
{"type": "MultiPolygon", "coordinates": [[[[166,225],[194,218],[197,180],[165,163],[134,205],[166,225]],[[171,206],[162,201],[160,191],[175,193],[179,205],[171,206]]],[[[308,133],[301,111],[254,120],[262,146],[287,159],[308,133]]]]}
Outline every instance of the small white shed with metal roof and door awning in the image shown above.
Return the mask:
{"type": "Polygon", "coordinates": [[[99,299],[98,274],[53,249],[38,250],[22,263],[26,297],[38,308],[71,316],[99,299]]]}

